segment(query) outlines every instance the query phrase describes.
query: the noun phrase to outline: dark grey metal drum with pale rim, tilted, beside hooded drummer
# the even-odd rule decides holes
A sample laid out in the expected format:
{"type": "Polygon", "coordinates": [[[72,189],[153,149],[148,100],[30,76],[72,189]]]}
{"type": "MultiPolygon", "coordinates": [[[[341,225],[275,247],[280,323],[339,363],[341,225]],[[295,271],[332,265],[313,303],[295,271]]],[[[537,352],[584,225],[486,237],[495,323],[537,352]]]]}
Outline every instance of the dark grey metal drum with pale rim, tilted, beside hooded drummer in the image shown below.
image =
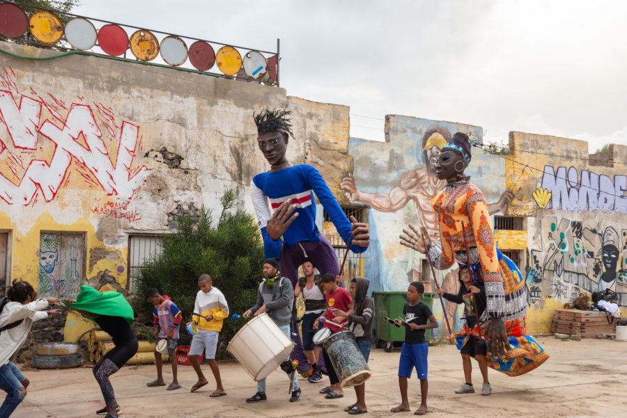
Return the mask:
{"type": "Polygon", "coordinates": [[[361,385],[370,378],[372,373],[352,332],[336,332],[324,346],[342,387],[361,385]]]}

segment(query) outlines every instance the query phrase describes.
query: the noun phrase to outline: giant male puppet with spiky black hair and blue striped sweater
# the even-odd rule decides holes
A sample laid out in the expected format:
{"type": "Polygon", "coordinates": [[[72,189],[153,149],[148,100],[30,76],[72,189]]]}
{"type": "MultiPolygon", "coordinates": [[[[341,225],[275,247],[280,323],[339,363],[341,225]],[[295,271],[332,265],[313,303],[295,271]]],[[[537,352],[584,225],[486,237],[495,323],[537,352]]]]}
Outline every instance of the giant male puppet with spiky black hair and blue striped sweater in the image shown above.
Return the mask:
{"type": "MultiPolygon", "coordinates": [[[[263,237],[265,257],[279,258],[281,276],[288,277],[295,286],[298,267],[307,260],[320,274],[339,274],[335,251],[316,226],[314,193],[346,245],[353,236],[351,251],[366,251],[370,236],[366,224],[358,223],[355,217],[348,220],[318,170],[308,164],[288,162],[285,155],[288,140],[294,137],[289,115],[285,109],[265,110],[254,115],[257,145],[270,163],[270,170],[254,176],[250,194],[263,237]]],[[[296,343],[292,357],[299,361],[299,373],[308,376],[311,368],[302,350],[297,327],[293,327],[292,336],[296,343]]]]}

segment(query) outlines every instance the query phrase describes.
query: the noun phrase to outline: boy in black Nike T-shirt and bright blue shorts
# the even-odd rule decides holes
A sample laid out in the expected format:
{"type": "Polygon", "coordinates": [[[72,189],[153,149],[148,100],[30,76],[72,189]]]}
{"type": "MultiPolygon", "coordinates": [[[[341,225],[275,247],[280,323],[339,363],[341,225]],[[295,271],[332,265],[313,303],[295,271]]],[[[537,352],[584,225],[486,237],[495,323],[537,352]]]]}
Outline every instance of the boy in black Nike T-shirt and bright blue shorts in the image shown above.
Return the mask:
{"type": "Polygon", "coordinates": [[[424,293],[424,285],[419,281],[412,281],[407,288],[407,303],[403,307],[405,320],[395,319],[394,323],[405,327],[405,342],[401,350],[401,358],[398,361],[398,387],[401,389],[401,405],[392,408],[392,412],[410,410],[407,397],[407,380],[416,369],[420,379],[420,407],[415,415],[425,415],[428,411],[426,405],[427,390],[427,353],[428,343],[424,341],[424,330],[438,327],[438,321],[426,304],[420,302],[424,293]],[[427,323],[428,320],[428,323],[427,323]]]}

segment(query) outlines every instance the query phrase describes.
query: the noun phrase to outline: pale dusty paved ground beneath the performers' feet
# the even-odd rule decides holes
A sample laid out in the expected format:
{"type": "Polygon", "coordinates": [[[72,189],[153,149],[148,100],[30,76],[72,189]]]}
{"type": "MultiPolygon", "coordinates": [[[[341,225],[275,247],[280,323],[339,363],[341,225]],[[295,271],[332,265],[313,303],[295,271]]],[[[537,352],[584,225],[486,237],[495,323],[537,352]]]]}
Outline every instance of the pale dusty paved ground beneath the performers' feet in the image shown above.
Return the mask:
{"type": "MultiPolygon", "coordinates": [[[[584,339],[561,341],[540,336],[537,341],[550,353],[539,369],[510,378],[490,369],[491,396],[457,395],[463,382],[461,359],[454,346],[429,349],[428,417],[627,417],[627,342],[584,339]]],[[[411,412],[392,414],[400,403],[398,355],[373,349],[366,382],[366,417],[413,416],[411,412]]],[[[122,417],[346,417],[343,408],[355,401],[353,389],[341,399],[327,400],[318,394],[323,384],[301,380],[300,402],[288,402],[288,380],[281,371],[268,378],[268,402],[247,404],[245,398],[256,392],[254,381],[235,362],[222,362],[220,370],[228,396],[209,398],[213,380],[203,366],[210,384],[196,393],[189,388],[196,381],[191,366],[179,366],[183,387],[167,392],[164,387],[146,387],[155,378],[155,366],[128,366],[111,379],[122,417]]],[[[171,381],[169,364],[164,378],[171,381]]],[[[15,410],[16,418],[95,417],[104,402],[91,368],[60,371],[26,371],[31,380],[24,405],[15,410]]],[[[326,380],[327,381],[327,380],[326,380]]],[[[328,382],[328,381],[327,381],[328,382]]],[[[479,369],[474,364],[473,382],[481,388],[479,369]]],[[[480,391],[478,391],[480,392],[480,391]]],[[[419,405],[419,382],[410,380],[412,410],[419,405]]],[[[1,396],[1,395],[0,395],[1,396]]]]}

